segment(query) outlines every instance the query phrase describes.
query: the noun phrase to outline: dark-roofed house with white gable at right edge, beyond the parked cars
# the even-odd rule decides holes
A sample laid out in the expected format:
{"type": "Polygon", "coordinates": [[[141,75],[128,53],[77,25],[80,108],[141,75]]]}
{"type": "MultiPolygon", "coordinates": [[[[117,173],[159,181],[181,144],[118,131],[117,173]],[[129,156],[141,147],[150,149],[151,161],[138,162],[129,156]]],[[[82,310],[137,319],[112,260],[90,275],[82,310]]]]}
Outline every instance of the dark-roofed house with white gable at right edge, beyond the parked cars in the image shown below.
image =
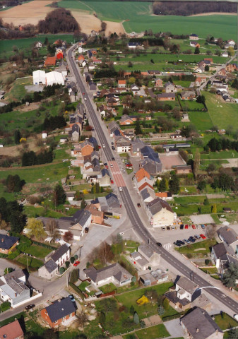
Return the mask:
{"type": "Polygon", "coordinates": [[[211,257],[215,261],[215,267],[218,272],[223,274],[230,266],[230,263],[238,265],[238,258],[231,246],[227,246],[225,242],[212,246],[211,257]]]}

